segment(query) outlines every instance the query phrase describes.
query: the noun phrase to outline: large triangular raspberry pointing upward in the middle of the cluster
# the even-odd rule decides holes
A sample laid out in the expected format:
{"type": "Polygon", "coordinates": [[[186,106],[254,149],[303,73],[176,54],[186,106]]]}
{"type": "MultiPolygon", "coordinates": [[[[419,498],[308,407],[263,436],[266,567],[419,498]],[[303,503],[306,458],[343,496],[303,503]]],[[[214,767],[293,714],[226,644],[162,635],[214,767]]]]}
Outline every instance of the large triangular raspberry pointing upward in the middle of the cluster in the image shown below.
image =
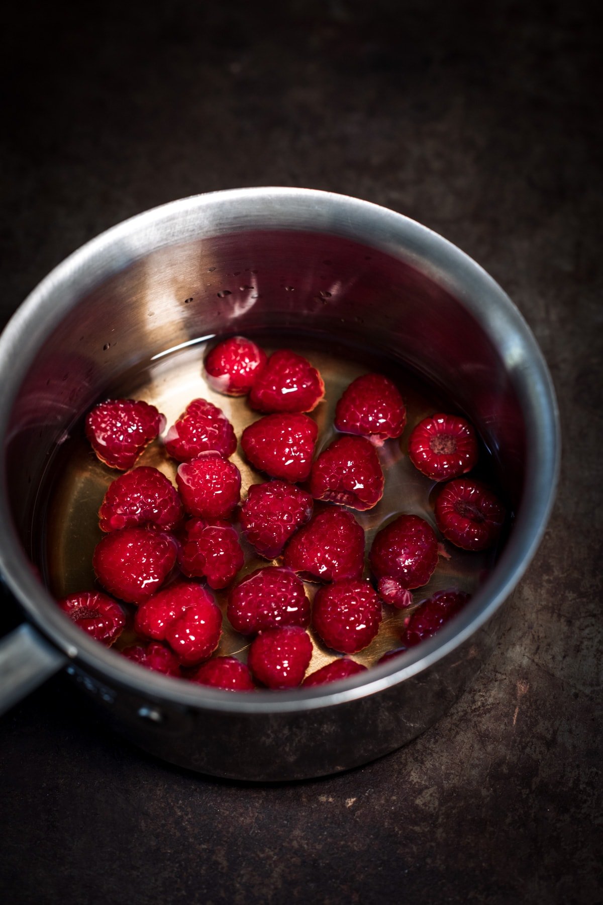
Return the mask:
{"type": "Polygon", "coordinates": [[[284,565],[320,581],[360,578],[364,532],[351,512],[328,509],[315,515],[285,548],[284,565]]]}

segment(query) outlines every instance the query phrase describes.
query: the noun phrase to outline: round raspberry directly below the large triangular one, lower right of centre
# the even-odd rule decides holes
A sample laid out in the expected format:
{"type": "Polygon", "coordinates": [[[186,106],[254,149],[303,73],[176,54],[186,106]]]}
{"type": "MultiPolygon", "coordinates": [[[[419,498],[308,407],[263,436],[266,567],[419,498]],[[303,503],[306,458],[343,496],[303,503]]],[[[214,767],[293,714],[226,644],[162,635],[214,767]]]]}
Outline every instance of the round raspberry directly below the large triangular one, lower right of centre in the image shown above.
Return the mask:
{"type": "Polygon", "coordinates": [[[314,598],[312,624],[327,647],[358,653],[379,631],[382,602],[368,581],[336,581],[314,598]]]}

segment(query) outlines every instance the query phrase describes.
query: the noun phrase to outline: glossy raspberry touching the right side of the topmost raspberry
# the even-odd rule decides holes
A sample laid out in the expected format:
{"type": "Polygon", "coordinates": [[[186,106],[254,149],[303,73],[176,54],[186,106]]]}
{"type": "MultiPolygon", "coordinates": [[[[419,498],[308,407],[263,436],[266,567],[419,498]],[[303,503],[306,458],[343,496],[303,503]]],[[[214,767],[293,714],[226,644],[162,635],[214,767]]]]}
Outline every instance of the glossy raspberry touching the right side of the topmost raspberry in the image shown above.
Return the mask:
{"type": "Polygon", "coordinates": [[[250,405],[257,412],[311,412],[324,396],[325,384],[316,367],[281,349],[269,357],[251,387],[250,405]]]}

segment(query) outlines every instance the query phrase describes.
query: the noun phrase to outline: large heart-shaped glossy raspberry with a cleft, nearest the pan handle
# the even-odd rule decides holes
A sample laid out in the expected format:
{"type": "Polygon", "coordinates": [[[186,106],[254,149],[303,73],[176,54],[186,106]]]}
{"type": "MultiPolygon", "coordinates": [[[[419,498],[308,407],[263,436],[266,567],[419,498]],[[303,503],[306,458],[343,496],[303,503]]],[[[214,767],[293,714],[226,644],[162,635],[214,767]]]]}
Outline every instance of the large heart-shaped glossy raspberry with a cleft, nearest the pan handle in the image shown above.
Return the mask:
{"type": "Polygon", "coordinates": [[[212,656],[221,636],[221,612],[201,585],[180,583],[150,597],[137,609],[135,628],[166,641],[184,666],[212,656]]]}

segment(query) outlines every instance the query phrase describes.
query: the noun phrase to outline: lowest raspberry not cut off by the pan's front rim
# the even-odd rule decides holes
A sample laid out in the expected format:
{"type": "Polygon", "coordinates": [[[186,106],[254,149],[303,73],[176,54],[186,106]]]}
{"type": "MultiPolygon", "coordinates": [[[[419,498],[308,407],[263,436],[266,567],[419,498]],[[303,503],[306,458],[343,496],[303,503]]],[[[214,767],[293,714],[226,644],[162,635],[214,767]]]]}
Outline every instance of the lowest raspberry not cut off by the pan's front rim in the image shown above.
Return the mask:
{"type": "Polygon", "coordinates": [[[251,642],[248,665],[262,685],[296,688],[312,659],[312,642],[298,625],[269,628],[251,642]]]}

